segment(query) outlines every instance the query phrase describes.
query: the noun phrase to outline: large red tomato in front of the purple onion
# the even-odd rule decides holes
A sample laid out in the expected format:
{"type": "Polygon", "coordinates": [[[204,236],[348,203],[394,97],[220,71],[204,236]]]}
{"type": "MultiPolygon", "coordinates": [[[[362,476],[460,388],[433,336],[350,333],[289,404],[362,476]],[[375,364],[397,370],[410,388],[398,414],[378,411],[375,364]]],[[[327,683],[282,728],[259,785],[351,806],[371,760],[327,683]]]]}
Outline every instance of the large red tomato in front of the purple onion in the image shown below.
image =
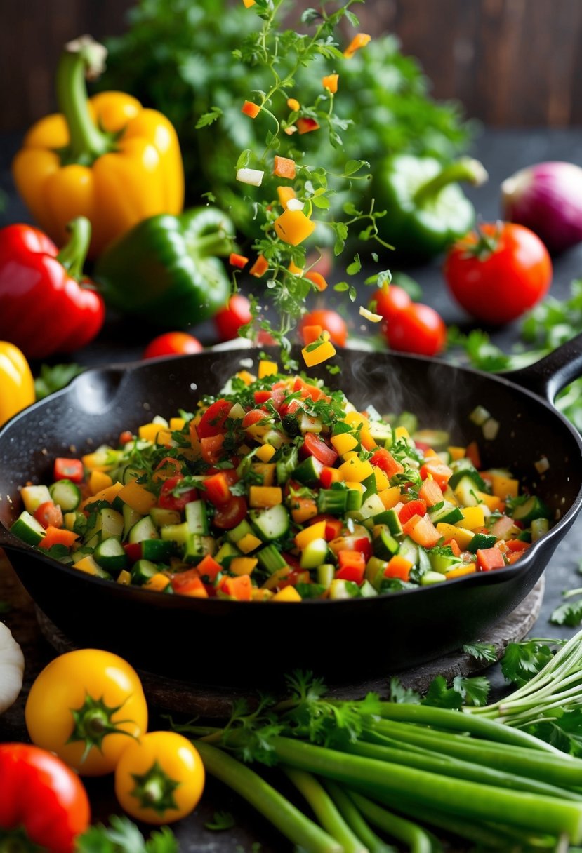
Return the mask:
{"type": "Polygon", "coordinates": [[[550,254],[523,225],[487,223],[480,230],[485,239],[472,232],[451,247],[445,258],[445,279],[469,314],[503,325],[533,308],[548,292],[550,254]]]}

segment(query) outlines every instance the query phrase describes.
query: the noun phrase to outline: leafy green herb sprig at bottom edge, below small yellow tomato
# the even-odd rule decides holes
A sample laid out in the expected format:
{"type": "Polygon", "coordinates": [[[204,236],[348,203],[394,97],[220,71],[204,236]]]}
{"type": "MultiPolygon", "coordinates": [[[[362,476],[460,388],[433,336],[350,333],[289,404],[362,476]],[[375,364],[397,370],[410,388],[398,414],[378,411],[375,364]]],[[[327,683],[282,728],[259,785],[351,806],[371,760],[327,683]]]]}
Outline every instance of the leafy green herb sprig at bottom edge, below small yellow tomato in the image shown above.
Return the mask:
{"type": "Polygon", "coordinates": [[[77,853],[178,853],[178,841],[168,827],[156,830],[146,841],[126,817],[112,815],[109,823],[80,835],[75,842],[77,853]]]}

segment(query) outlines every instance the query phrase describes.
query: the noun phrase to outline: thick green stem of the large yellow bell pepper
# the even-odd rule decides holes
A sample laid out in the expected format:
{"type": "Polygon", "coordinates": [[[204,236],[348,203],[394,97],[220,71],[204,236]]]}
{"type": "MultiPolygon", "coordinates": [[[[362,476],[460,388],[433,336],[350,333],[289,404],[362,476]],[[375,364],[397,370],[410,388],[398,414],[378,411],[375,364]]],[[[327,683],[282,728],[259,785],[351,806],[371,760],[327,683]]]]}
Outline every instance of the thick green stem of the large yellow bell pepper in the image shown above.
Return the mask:
{"type": "Polygon", "coordinates": [[[80,36],[65,45],[56,69],[56,96],[67,121],[70,142],[67,162],[91,165],[111,149],[111,138],[90,117],[85,78],[99,76],[107,49],[90,36],[80,36]]]}

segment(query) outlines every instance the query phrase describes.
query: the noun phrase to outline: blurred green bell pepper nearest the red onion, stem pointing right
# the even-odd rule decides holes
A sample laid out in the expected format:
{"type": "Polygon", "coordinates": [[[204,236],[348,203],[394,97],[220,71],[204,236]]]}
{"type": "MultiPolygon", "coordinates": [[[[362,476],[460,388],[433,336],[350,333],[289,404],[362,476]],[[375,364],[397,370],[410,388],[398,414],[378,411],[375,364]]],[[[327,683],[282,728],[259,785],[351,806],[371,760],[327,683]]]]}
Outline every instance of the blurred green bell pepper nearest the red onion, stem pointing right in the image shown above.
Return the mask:
{"type": "Polygon", "coordinates": [[[433,157],[399,154],[375,172],[376,210],[381,236],[397,252],[430,258],[473,227],[474,207],[457,181],[483,183],[487,173],[478,160],[462,157],[443,165],[433,157]]]}

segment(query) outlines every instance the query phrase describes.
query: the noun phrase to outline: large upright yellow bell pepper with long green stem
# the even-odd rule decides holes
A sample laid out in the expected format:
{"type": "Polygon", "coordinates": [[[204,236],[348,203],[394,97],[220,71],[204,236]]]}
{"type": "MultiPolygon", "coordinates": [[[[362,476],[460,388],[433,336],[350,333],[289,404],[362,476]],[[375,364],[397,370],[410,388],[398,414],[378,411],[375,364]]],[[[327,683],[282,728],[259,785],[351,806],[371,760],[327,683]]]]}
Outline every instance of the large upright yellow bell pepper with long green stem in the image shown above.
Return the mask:
{"type": "Polygon", "coordinates": [[[65,45],[56,73],[61,113],[32,126],[12,164],[20,195],[58,245],[68,222],[90,219],[90,258],[142,219],[183,207],[182,158],[168,119],[123,92],[87,99],[84,76],[102,70],[106,53],[90,37],[65,45]]]}

